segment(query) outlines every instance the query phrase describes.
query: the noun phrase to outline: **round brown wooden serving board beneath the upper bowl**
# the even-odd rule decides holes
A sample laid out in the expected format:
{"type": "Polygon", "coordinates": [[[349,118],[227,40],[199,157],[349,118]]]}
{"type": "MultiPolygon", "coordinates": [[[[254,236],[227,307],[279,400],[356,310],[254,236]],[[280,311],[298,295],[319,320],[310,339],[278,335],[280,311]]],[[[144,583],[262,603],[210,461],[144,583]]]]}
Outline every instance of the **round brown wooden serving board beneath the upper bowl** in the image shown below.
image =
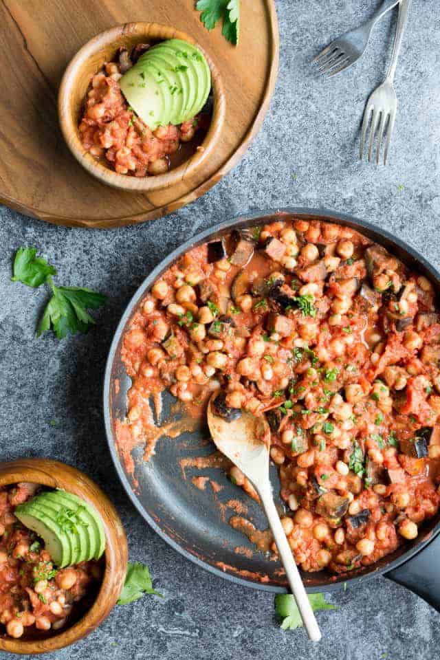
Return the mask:
{"type": "Polygon", "coordinates": [[[0,201],[48,222],[116,228],[197,199],[243,155],[261,123],[278,69],[273,0],[241,0],[238,47],[208,32],[194,0],[2,0],[0,201]],[[121,192],[76,162],[58,127],[56,96],[67,63],[113,25],[151,21],[194,36],[219,68],[226,94],[223,135],[201,172],[155,192],[121,192]]]}

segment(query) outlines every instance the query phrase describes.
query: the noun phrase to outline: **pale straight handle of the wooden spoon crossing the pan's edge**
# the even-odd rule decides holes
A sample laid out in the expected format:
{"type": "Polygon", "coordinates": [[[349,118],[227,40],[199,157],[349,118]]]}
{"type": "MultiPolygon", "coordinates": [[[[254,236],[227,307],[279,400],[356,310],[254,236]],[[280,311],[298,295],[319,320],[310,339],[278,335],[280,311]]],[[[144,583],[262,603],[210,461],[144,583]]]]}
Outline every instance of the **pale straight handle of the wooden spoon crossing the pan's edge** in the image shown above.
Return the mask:
{"type": "Polygon", "coordinates": [[[267,520],[269,520],[270,529],[272,529],[276,547],[278,548],[281,562],[286,571],[287,580],[289,580],[290,588],[292,589],[296,604],[300,610],[309,638],[312,641],[319,641],[321,639],[321,632],[318,627],[318,622],[316,621],[314,610],[312,610],[309,598],[307,597],[303,580],[301,580],[283,525],[281,525],[280,516],[278,516],[278,511],[276,510],[270,485],[268,485],[267,488],[259,489],[259,496],[263,503],[267,520]]]}

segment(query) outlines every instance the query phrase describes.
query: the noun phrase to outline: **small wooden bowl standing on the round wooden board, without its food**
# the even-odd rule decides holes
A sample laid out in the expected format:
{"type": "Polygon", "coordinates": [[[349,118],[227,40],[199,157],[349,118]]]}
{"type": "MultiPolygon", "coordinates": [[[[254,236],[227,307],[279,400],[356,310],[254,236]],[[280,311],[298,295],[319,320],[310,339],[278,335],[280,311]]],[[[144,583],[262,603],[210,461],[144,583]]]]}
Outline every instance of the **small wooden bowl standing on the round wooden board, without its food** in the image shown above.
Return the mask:
{"type": "Polygon", "coordinates": [[[185,32],[179,32],[179,30],[175,30],[175,28],[171,28],[168,25],[159,25],[159,23],[125,23],[125,25],[117,25],[115,28],[101,32],[94,39],[88,41],[78,51],[76,56],[74,56],[61,80],[61,87],[58,94],[58,115],[61,130],[70,151],[72,151],[78,162],[90,174],[100,179],[104,184],[109,184],[109,186],[113,186],[114,188],[133,190],[135,192],[148,192],[150,190],[175,186],[180,181],[184,181],[195,170],[198,170],[203,164],[203,161],[212,153],[219,140],[221,127],[225,118],[225,93],[217,67],[201,45],[195,39],[192,39],[191,36],[185,34],[185,32]],[[134,45],[143,41],[159,42],[165,39],[183,39],[197,45],[206,57],[206,61],[210,67],[212,89],[214,92],[214,108],[208,133],[201,144],[203,149],[196,151],[186,162],[166,174],[149,177],[133,177],[131,175],[118,174],[98,162],[91,154],[85,151],[83,143],[80,140],[78,124],[91,77],[99,71],[104,62],[113,60],[115,52],[119,47],[131,50],[134,45]]]}

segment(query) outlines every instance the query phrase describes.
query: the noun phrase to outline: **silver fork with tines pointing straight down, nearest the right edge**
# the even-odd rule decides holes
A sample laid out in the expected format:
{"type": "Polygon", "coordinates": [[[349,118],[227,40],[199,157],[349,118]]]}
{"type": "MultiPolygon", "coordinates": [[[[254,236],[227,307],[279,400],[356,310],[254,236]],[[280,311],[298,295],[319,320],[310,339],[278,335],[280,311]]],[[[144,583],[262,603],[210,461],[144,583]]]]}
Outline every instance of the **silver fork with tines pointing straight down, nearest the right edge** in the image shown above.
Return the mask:
{"type": "Polygon", "coordinates": [[[368,159],[371,161],[371,157],[373,155],[374,138],[377,134],[377,164],[379,164],[380,147],[384,133],[386,131],[384,151],[384,165],[386,165],[388,149],[391,142],[391,135],[393,133],[397,112],[397,96],[393,87],[393,80],[396,72],[397,58],[399,57],[401,41],[402,37],[404,36],[406,19],[408,18],[408,10],[410,8],[410,4],[411,0],[401,0],[400,2],[399,18],[397,19],[397,28],[393,45],[393,55],[391,56],[391,64],[384,82],[373,91],[373,94],[371,94],[364,111],[364,121],[362,122],[362,133],[360,137],[360,159],[362,159],[362,155],[364,154],[366,131],[368,130],[371,118],[368,159]]]}

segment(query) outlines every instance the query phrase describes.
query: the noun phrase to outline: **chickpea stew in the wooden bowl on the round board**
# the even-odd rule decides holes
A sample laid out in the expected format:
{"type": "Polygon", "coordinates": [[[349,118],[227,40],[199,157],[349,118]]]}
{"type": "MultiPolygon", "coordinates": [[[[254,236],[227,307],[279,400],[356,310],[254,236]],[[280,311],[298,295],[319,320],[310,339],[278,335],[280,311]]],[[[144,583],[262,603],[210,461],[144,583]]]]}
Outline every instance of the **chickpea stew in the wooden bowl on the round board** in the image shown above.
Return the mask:
{"type": "MultiPolygon", "coordinates": [[[[152,126],[148,126],[148,119],[142,120],[122,93],[120,81],[126,72],[131,72],[139,65],[140,59],[149,52],[150,47],[150,44],[140,43],[131,52],[120,48],[115,61],[104,63],[91,79],[79,124],[80,139],[92,156],[119,174],[135,177],[164,174],[186,161],[198,149],[203,149],[201,142],[206,137],[212,114],[211,98],[204,107],[196,108],[197,112],[193,116],[184,121],[179,120],[178,124],[169,121],[169,113],[166,122],[155,120],[152,126]]],[[[151,48],[151,52],[153,50],[151,48]]],[[[183,64],[174,67],[176,72],[166,65],[162,65],[166,73],[156,68],[153,82],[148,77],[148,71],[141,70],[141,91],[148,92],[155,82],[159,82],[164,83],[160,87],[161,94],[163,88],[167,92],[171,90],[172,98],[184,98],[183,85],[171,85],[166,76],[178,74],[183,77],[181,69],[188,68],[185,62],[186,59],[183,64]]],[[[128,85],[137,87],[133,82],[128,85]]],[[[155,93],[159,94],[159,90],[155,93]]],[[[172,104],[173,100],[165,100],[162,112],[164,107],[172,104]]],[[[147,116],[151,114],[150,120],[154,113],[154,109],[147,113],[147,116]]]]}

